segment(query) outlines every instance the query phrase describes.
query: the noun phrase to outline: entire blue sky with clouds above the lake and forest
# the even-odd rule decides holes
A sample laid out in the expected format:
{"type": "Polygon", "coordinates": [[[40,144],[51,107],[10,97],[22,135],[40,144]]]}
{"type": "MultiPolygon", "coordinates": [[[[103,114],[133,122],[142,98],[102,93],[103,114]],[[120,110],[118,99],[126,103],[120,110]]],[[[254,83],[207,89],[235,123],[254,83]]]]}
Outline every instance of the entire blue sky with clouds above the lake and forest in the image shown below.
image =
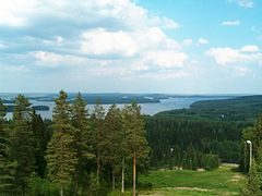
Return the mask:
{"type": "Polygon", "coordinates": [[[261,94],[261,0],[0,0],[1,93],[261,94]]]}

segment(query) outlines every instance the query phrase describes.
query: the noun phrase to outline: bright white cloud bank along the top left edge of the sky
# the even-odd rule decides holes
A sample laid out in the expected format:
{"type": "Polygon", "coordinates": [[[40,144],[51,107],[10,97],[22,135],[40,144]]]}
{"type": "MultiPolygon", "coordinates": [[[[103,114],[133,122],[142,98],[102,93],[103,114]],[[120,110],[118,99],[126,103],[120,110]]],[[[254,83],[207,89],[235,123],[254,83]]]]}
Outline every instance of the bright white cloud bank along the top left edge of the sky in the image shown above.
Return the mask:
{"type": "Polygon", "coordinates": [[[110,25],[118,24],[126,28],[142,28],[144,24],[164,28],[180,26],[168,17],[148,13],[131,0],[75,0],[74,3],[71,0],[0,0],[0,25],[13,27],[32,25],[43,17],[66,20],[70,25],[83,26],[105,19],[110,21],[110,25]]]}

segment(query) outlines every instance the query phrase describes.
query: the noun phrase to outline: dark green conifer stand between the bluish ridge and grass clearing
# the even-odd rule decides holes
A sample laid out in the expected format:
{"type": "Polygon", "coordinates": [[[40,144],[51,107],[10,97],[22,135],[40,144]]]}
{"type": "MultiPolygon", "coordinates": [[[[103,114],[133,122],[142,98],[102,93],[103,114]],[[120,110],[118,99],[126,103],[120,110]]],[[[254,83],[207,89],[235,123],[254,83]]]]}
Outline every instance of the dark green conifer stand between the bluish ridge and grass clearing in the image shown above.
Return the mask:
{"type": "Polygon", "coordinates": [[[146,118],[151,166],[157,168],[171,163],[174,167],[183,164],[187,169],[201,168],[202,155],[211,152],[222,162],[239,162],[241,130],[246,126],[245,123],[207,120],[146,118]]]}

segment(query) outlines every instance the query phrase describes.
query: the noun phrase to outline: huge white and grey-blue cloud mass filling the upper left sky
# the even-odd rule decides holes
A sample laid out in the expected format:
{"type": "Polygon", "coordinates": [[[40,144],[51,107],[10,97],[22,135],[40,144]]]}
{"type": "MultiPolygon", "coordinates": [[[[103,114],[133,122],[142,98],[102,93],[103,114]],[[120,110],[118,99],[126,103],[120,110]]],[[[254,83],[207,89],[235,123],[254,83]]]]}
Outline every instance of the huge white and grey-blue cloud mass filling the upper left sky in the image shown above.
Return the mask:
{"type": "Polygon", "coordinates": [[[192,40],[178,44],[164,32],[177,29],[180,24],[152,14],[132,0],[0,2],[0,26],[28,28],[28,32],[45,29],[37,32],[39,37],[32,34],[15,39],[15,46],[26,46],[29,50],[24,57],[31,68],[70,71],[81,68],[91,75],[135,77],[136,73],[164,75],[174,70],[184,73],[186,63],[190,62],[181,50],[192,45],[192,40]],[[37,49],[32,51],[32,48],[37,49]]]}

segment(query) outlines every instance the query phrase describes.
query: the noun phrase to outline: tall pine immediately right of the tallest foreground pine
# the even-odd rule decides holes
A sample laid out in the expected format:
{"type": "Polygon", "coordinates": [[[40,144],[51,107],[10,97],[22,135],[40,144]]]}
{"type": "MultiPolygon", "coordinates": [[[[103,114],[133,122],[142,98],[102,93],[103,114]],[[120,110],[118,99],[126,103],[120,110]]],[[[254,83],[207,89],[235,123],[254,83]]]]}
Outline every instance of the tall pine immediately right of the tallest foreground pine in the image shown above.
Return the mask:
{"type": "Polygon", "coordinates": [[[78,164],[74,173],[74,195],[76,195],[78,186],[81,181],[85,180],[83,179],[85,177],[83,176],[83,173],[85,173],[87,160],[94,157],[94,155],[90,152],[90,147],[87,144],[90,122],[87,119],[88,112],[85,109],[86,105],[87,103],[82,98],[81,94],[78,94],[72,106],[72,125],[78,130],[74,136],[74,147],[76,149],[78,157],[78,164]]]}

